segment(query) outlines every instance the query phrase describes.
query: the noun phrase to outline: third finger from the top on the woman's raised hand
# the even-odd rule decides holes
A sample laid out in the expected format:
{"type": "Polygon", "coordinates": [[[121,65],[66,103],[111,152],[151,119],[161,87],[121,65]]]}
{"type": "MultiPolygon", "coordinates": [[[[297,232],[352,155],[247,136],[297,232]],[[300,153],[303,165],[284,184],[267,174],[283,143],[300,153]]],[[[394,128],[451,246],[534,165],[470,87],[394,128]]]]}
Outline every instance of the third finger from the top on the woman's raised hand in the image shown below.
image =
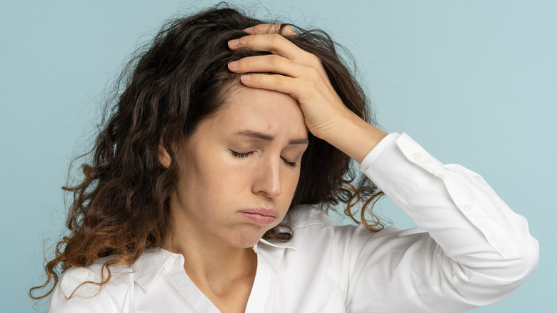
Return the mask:
{"type": "Polygon", "coordinates": [[[291,77],[301,76],[305,67],[277,54],[247,56],[229,63],[229,70],[234,73],[272,72],[291,77]]]}

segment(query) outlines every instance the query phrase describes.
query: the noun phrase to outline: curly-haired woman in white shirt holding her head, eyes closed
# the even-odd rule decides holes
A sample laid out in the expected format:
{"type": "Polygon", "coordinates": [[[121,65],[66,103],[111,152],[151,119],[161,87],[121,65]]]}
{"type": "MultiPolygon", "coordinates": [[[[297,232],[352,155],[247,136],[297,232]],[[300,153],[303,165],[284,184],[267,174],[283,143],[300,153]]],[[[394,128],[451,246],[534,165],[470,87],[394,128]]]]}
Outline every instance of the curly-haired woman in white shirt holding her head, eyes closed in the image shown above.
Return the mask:
{"type": "Polygon", "coordinates": [[[129,68],[68,188],[50,312],[458,312],[536,268],[526,220],[481,177],[368,124],[321,31],[209,9],[129,68]],[[382,192],[428,232],[382,229],[382,192]],[[333,227],[338,203],[358,227],[333,227]]]}

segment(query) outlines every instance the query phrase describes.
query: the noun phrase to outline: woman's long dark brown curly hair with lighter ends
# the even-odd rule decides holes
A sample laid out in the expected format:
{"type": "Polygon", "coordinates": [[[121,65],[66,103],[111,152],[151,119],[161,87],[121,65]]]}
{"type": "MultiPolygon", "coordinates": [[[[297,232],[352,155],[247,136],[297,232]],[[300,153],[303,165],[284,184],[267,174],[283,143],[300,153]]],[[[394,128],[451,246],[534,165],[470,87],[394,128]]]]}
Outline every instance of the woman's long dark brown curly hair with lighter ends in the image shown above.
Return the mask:
{"type": "MultiPolygon", "coordinates": [[[[163,247],[171,227],[169,198],[180,172],[177,147],[221,107],[231,82],[239,81],[226,64],[267,54],[232,51],[227,45],[247,35],[243,29],[262,23],[221,4],[167,22],[152,44],[136,52],[116,82],[116,89],[123,91],[106,103],[104,122],[82,165],[82,179],[63,187],[73,194],[66,220],[69,235],[56,245],[54,258],[45,265],[46,282],[31,288],[30,297],[51,294],[67,268],[86,267],[110,256],[101,282],[84,282],[102,287],[111,277],[109,267],[133,264],[147,247],[163,247]],[[169,167],[159,162],[159,146],[171,156],[169,167]]],[[[318,56],[343,103],[373,123],[363,89],[337,54],[334,41],[321,30],[293,27],[298,34],[287,38],[318,56]]],[[[291,208],[318,204],[327,210],[344,204],[348,217],[377,231],[382,225],[371,207],[381,194],[351,167],[346,154],[309,134],[291,208]]],[[[264,237],[288,241],[294,235],[276,229],[285,227],[271,229],[264,237]]]]}

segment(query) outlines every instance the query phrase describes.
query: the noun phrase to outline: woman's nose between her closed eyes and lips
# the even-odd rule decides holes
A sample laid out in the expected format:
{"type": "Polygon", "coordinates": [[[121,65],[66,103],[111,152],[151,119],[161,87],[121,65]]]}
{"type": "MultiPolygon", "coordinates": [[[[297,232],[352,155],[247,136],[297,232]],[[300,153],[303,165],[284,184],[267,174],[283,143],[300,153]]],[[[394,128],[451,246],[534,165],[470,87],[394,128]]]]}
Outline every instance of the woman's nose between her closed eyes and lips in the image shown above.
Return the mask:
{"type": "Polygon", "coordinates": [[[256,169],[256,179],[253,191],[256,194],[264,194],[268,198],[276,198],[281,195],[281,167],[280,158],[269,159],[256,169]]]}

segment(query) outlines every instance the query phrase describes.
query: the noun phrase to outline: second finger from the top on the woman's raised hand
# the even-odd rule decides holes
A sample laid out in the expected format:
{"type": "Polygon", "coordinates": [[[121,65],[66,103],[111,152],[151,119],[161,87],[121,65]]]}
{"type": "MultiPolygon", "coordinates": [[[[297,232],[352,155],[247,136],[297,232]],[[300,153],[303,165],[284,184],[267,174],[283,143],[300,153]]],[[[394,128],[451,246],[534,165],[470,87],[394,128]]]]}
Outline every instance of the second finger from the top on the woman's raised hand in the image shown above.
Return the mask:
{"type": "Polygon", "coordinates": [[[303,63],[303,57],[308,57],[308,52],[303,51],[288,39],[279,34],[249,35],[229,41],[230,49],[247,47],[256,51],[269,51],[273,54],[284,56],[293,61],[303,63]]]}

